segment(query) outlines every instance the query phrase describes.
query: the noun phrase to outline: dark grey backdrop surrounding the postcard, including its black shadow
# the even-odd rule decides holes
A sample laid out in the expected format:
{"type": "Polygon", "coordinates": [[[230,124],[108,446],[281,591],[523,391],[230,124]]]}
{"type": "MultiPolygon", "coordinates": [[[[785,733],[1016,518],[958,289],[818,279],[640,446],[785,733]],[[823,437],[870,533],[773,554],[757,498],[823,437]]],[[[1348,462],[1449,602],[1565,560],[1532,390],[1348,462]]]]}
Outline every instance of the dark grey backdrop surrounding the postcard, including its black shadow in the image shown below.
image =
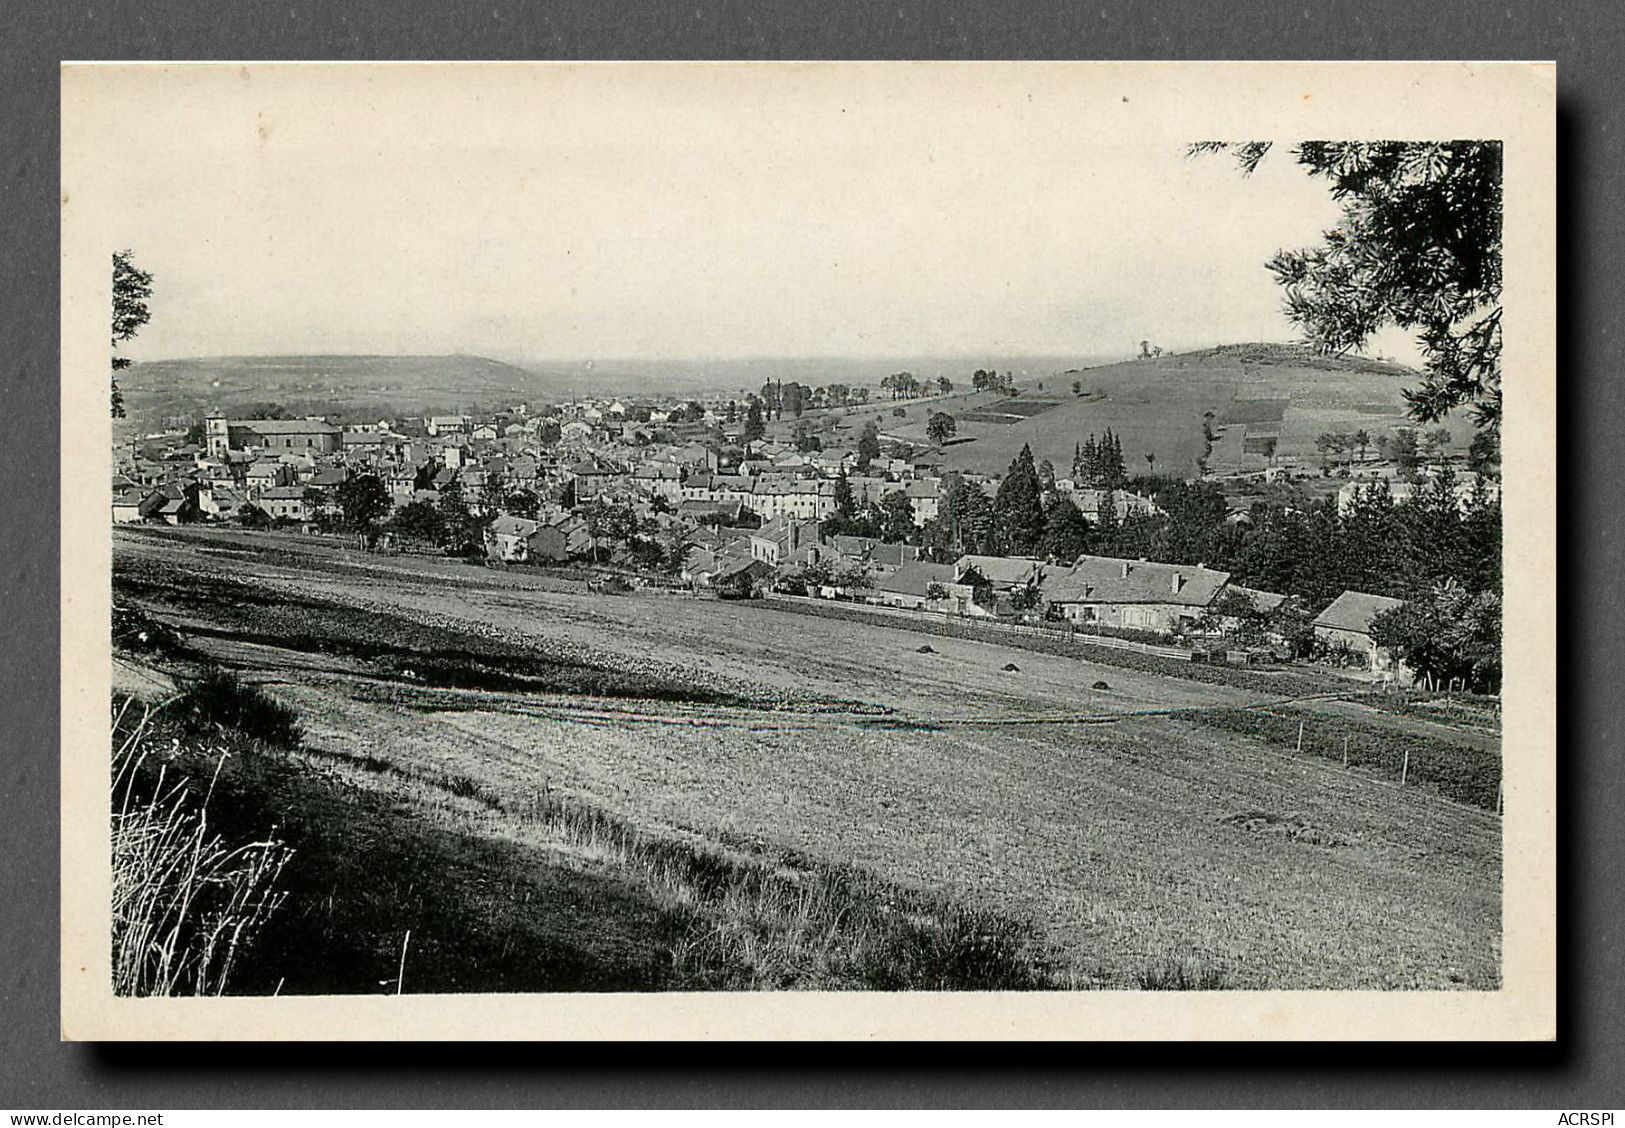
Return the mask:
{"type": "MultiPolygon", "coordinates": [[[[0,21],[0,1107],[1618,1107],[1618,3],[23,0],[0,21]],[[120,1047],[57,1040],[63,59],[1555,59],[1560,1037],[1552,1047],[120,1047]]],[[[99,377],[98,377],[99,379],[99,377]]],[[[1516,639],[1508,639],[1516,645],[1516,639]]]]}

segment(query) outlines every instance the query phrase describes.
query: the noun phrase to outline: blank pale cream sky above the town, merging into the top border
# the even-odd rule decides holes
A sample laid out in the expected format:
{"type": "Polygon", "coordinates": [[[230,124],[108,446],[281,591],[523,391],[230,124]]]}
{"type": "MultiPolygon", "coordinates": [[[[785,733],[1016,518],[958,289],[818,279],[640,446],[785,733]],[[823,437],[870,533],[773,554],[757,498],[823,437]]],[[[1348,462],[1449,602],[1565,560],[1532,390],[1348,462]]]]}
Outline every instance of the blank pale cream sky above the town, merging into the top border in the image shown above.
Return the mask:
{"type": "Polygon", "coordinates": [[[135,359],[1292,340],[1264,262],[1336,223],[1324,184],[1188,158],[1178,91],[1071,75],[70,68],[63,206],[154,276],[135,359]]]}

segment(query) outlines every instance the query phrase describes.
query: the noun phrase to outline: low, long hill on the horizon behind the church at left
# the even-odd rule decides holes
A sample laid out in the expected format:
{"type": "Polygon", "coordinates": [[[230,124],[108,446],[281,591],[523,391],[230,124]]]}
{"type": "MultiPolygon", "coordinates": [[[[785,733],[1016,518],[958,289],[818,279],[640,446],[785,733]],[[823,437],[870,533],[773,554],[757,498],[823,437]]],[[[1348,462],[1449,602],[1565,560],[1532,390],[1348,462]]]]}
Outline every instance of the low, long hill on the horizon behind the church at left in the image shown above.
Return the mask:
{"type": "Polygon", "coordinates": [[[211,356],[148,361],[119,379],[135,426],[161,427],[210,408],[280,403],[299,414],[377,419],[552,398],[561,382],[484,356],[211,356]]]}

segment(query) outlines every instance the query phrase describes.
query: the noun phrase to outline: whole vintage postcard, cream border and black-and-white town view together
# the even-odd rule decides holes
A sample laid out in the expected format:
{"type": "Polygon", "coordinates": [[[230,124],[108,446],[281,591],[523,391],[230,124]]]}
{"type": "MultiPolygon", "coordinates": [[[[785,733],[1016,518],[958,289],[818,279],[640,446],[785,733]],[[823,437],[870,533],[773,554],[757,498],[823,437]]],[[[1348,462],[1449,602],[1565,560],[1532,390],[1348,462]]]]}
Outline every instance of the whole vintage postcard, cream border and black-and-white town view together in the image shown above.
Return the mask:
{"type": "Polygon", "coordinates": [[[1294,81],[65,67],[72,1014],[1532,1037],[1550,70],[1294,81]]]}

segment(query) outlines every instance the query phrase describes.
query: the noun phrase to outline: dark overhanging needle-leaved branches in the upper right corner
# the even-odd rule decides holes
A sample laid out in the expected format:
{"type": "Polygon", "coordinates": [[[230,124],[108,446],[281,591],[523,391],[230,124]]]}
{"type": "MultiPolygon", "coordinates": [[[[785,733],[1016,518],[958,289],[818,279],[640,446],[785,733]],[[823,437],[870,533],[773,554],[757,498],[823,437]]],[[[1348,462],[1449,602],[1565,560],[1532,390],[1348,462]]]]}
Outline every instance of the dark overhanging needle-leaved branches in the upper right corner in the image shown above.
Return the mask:
{"type": "MultiPolygon", "coordinates": [[[[1243,174],[1268,141],[1202,141],[1243,174]]],[[[1384,325],[1417,335],[1425,377],[1406,388],[1410,418],[1471,406],[1502,419],[1502,143],[1303,141],[1297,163],[1331,185],[1342,223],[1320,247],[1269,262],[1287,315],[1324,353],[1363,346],[1384,325]]]]}

